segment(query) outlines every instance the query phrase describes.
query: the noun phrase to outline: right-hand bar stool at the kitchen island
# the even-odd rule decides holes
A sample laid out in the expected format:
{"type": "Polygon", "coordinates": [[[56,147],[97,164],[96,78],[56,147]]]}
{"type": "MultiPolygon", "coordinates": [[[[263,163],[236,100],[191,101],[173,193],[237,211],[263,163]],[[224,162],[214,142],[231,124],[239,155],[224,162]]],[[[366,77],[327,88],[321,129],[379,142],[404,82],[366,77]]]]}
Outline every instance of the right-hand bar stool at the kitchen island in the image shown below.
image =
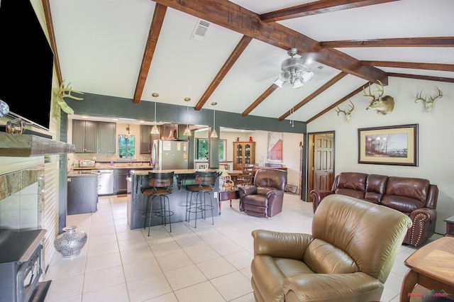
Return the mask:
{"type": "Polygon", "coordinates": [[[191,213],[194,213],[194,228],[197,228],[197,213],[201,213],[201,218],[206,219],[206,211],[211,211],[211,220],[214,225],[213,214],[213,200],[211,199],[211,192],[214,190],[216,184],[216,177],[218,172],[196,172],[196,184],[187,186],[187,190],[191,193],[189,198],[189,205],[187,206],[187,221],[191,220],[191,213]],[[192,196],[196,194],[194,200],[192,196]],[[206,200],[208,196],[209,201],[206,200]]]}

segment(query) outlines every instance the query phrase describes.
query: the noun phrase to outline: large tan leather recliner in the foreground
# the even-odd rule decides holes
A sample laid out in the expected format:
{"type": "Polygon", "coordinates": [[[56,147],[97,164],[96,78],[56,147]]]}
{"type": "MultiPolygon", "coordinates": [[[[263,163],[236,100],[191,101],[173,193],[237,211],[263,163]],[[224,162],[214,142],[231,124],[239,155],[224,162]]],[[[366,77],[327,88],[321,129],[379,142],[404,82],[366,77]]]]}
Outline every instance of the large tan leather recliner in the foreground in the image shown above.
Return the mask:
{"type": "Polygon", "coordinates": [[[253,230],[255,301],[380,301],[410,227],[404,213],[332,194],[311,235],[253,230]]]}

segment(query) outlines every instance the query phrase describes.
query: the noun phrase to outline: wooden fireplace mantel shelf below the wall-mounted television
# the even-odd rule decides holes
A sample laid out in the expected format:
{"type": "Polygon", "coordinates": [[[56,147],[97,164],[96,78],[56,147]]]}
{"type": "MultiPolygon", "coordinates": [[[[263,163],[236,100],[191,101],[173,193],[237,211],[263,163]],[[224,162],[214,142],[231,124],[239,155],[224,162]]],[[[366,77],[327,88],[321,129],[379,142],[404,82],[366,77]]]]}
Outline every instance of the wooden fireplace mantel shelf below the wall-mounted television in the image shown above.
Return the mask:
{"type": "Polygon", "coordinates": [[[0,156],[34,157],[74,153],[76,147],[67,142],[31,134],[0,133],[0,156]]]}

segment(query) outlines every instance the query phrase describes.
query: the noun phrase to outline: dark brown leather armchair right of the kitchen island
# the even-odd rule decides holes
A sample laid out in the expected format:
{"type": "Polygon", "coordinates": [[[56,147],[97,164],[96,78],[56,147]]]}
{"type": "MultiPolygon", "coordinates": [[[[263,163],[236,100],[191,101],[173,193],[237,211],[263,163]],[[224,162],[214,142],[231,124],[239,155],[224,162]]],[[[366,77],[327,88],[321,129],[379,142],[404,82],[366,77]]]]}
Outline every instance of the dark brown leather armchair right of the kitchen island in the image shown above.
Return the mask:
{"type": "Polygon", "coordinates": [[[259,169],[253,186],[239,186],[240,211],[252,216],[272,218],[282,212],[287,171],[259,169]]]}

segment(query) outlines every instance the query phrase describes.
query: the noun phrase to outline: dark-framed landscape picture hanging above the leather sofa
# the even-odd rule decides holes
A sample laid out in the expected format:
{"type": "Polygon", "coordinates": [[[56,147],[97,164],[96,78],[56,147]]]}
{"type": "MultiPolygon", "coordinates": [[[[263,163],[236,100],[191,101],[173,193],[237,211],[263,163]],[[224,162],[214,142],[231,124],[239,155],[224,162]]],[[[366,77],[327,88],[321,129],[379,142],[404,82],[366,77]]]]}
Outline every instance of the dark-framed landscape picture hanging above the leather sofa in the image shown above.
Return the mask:
{"type": "Polygon", "coordinates": [[[358,129],[359,164],[418,166],[418,124],[358,129]]]}

